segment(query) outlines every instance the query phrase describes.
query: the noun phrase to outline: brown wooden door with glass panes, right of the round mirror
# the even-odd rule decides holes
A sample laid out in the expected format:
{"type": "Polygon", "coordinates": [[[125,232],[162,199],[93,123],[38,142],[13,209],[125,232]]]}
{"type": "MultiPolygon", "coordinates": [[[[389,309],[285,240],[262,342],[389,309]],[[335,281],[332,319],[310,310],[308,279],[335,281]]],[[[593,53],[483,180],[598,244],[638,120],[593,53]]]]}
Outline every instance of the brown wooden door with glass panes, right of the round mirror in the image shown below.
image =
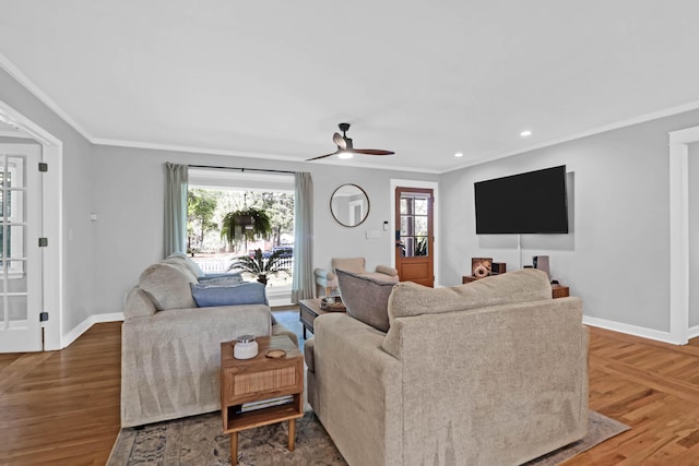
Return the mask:
{"type": "Polygon", "coordinates": [[[435,286],[431,189],[395,189],[395,268],[401,282],[435,286]]]}

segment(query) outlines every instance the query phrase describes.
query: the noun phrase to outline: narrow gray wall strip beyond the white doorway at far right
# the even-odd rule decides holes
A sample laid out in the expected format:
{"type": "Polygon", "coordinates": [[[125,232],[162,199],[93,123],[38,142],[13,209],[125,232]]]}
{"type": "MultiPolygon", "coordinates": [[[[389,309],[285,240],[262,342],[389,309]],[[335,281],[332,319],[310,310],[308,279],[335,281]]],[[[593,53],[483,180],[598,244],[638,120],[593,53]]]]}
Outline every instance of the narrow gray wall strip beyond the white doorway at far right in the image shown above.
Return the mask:
{"type": "Polygon", "coordinates": [[[689,145],[689,326],[699,325],[699,143],[689,145]]]}

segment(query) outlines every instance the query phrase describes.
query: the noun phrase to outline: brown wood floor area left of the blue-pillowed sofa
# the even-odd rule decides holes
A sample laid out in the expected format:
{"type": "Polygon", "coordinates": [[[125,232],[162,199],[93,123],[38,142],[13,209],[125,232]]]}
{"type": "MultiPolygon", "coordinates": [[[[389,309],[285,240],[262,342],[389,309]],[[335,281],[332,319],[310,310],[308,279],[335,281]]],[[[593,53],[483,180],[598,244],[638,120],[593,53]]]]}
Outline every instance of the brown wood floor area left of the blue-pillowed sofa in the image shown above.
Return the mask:
{"type": "Polygon", "coordinates": [[[121,323],[60,351],[0,355],[0,464],[104,466],[119,433],[121,323]]]}

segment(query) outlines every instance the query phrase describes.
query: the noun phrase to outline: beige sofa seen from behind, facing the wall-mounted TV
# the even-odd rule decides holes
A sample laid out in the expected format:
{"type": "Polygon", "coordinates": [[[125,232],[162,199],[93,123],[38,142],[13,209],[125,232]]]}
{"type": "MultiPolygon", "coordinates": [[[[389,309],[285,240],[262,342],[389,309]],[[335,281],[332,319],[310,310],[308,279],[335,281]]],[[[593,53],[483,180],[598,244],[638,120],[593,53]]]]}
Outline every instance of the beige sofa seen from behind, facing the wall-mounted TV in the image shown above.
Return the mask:
{"type": "Polygon", "coordinates": [[[350,465],[519,465],[585,435],[582,303],[545,273],[400,283],[388,312],[388,333],[320,315],[306,343],[309,403],[350,465]]]}

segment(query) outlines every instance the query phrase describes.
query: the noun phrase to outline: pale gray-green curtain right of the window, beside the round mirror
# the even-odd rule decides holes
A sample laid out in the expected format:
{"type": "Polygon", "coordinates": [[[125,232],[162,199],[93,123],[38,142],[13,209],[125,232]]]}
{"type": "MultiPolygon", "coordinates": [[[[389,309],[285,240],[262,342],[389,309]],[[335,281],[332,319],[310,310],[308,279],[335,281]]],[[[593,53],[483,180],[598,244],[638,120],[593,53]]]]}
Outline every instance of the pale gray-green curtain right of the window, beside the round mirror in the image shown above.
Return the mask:
{"type": "Polygon", "coordinates": [[[296,174],[294,196],[294,282],[292,302],[313,297],[313,181],[310,174],[296,174]]]}

